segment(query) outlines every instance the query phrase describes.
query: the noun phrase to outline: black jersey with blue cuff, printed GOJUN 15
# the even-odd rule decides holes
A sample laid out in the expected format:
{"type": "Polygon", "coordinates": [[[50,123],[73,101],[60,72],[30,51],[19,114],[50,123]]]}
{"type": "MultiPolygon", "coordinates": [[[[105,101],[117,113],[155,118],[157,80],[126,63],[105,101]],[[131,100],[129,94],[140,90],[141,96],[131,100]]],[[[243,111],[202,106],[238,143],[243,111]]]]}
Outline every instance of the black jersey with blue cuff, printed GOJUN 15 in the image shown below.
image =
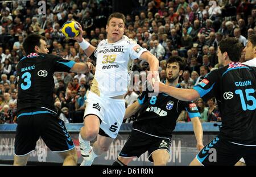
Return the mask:
{"type": "Polygon", "coordinates": [[[232,62],[193,87],[205,101],[216,97],[222,120],[220,136],[230,142],[256,145],[255,72],[254,67],[232,62]]]}

